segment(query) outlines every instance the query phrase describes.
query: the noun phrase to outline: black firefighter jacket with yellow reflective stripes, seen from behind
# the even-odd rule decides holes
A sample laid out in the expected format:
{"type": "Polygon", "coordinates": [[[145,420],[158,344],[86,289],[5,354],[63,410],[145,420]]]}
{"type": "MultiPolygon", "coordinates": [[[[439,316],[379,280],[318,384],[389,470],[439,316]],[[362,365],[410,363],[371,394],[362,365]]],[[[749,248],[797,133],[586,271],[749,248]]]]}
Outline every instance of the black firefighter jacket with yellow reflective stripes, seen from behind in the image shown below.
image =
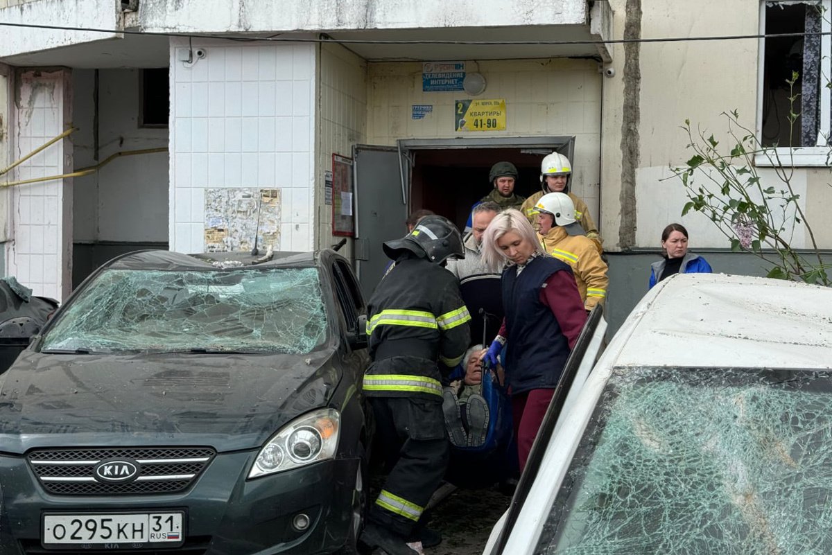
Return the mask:
{"type": "Polygon", "coordinates": [[[470,341],[457,278],[425,258],[399,258],[367,305],[364,395],[442,402],[438,364],[453,368],[470,341]]]}

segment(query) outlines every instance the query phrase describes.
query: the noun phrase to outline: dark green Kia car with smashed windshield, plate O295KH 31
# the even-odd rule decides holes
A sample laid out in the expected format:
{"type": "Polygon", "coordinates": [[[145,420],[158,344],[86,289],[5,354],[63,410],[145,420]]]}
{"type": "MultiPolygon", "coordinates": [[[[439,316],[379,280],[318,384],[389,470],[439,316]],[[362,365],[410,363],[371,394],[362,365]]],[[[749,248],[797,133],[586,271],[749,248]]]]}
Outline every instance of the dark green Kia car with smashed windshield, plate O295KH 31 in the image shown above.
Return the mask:
{"type": "Polygon", "coordinates": [[[356,553],[363,311],[329,250],[106,263],[0,376],[0,553],[356,553]]]}

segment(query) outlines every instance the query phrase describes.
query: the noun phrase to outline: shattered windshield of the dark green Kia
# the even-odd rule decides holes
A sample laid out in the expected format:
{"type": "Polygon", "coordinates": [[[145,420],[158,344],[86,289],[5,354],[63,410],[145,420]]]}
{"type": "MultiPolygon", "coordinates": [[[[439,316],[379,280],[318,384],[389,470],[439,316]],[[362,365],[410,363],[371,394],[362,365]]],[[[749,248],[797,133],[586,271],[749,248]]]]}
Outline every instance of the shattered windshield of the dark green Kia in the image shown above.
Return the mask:
{"type": "Polygon", "coordinates": [[[42,351],[302,354],[326,338],[316,268],[102,272],[42,351]]]}

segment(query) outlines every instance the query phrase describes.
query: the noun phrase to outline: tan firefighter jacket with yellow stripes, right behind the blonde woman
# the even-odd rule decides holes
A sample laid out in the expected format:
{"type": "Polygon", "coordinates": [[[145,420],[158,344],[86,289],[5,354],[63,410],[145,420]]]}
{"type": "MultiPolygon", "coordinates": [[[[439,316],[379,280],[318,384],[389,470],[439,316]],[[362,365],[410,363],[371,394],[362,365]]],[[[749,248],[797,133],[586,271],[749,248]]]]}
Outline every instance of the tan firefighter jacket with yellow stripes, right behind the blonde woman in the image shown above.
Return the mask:
{"type": "Polygon", "coordinates": [[[566,228],[560,226],[550,229],[545,236],[537,233],[537,238],[547,253],[572,267],[578,292],[587,310],[604,301],[609,283],[607,264],[590,238],[570,235],[566,228]]]}

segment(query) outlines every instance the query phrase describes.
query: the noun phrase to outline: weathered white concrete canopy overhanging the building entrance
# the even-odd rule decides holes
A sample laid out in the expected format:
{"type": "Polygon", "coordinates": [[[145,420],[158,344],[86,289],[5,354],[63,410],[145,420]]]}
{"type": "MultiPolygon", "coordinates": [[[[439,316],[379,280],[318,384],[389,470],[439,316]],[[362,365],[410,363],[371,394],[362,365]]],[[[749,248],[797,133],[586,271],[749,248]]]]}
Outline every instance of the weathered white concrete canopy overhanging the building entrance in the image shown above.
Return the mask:
{"type": "Polygon", "coordinates": [[[370,61],[592,56],[611,61],[609,2],[587,0],[141,0],[151,32],[324,33],[370,61]],[[231,4],[234,4],[233,6],[231,4]],[[552,42],[579,42],[552,44],[552,42]],[[476,44],[523,42],[523,44],[476,44]],[[537,42],[537,44],[535,44],[537,42]]]}

